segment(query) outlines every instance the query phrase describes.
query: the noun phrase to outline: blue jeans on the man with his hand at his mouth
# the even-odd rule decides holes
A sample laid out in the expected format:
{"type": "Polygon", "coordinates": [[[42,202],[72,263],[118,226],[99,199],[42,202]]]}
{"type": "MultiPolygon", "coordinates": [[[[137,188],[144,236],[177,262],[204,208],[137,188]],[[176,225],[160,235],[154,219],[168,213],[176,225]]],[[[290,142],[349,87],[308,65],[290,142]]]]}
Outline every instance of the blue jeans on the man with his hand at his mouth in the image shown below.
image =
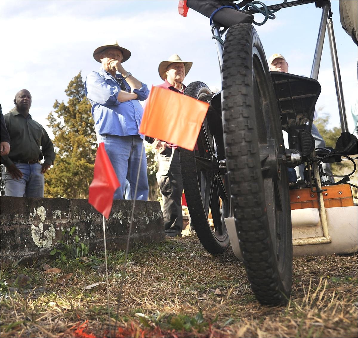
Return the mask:
{"type": "Polygon", "coordinates": [[[98,143],[103,142],[105,149],[116,172],[121,186],[115,191],[114,199],[134,199],[137,174],[139,169],[139,181],[137,188],[137,200],[148,199],[149,185],[147,177],[147,158],[143,146],[143,140],[139,135],[116,136],[98,135],[98,143]],[[141,165],[139,160],[142,155],[141,165]]]}

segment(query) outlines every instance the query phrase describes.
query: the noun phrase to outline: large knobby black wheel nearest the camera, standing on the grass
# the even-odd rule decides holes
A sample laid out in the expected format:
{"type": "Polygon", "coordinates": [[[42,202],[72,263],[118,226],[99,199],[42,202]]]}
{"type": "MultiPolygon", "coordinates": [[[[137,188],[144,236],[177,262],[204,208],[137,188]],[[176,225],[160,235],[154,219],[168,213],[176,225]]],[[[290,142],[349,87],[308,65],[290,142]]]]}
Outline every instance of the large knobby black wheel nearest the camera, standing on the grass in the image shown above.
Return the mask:
{"type": "Polygon", "coordinates": [[[260,303],[284,304],[292,283],[292,227],[280,113],[265,53],[250,24],[226,34],[223,131],[243,263],[260,303]]]}

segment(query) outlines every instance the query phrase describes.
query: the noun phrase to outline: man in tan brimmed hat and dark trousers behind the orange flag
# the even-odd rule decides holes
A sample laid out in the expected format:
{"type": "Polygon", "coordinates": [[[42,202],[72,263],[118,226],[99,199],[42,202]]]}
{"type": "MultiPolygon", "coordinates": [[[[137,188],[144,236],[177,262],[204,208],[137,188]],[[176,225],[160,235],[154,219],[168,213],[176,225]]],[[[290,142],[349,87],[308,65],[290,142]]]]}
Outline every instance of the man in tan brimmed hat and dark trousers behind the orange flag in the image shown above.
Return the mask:
{"type": "MultiPolygon", "coordinates": [[[[183,93],[185,76],[192,67],[192,62],[183,61],[179,55],[171,55],[159,64],[159,76],[164,83],[158,87],[183,93]]],[[[179,164],[179,150],[175,144],[155,140],[158,159],[156,178],[163,195],[163,216],[165,234],[170,237],[182,235],[182,193],[183,181],[179,164]]]]}

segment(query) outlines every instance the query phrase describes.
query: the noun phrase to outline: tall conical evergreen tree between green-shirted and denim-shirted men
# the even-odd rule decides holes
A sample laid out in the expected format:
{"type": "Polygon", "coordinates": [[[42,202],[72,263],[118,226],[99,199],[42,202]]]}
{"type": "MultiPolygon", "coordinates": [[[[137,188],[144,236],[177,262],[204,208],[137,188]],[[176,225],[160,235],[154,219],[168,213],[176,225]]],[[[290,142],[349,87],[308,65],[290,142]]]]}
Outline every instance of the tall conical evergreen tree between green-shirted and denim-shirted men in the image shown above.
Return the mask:
{"type": "Polygon", "coordinates": [[[54,134],[56,159],[45,175],[45,197],[88,198],[97,150],[91,104],[84,94],[81,72],[65,90],[67,105],[55,101],[47,119],[54,134]]]}

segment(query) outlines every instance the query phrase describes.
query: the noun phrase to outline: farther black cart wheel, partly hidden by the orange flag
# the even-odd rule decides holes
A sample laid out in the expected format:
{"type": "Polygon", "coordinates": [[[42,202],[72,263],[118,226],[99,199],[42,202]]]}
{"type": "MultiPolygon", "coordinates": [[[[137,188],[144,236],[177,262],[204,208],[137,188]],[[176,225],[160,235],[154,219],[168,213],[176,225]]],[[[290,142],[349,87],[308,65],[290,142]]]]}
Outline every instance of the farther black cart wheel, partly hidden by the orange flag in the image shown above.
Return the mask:
{"type": "MultiPolygon", "coordinates": [[[[190,83],[184,94],[207,102],[213,95],[208,86],[199,81],[190,83]]],[[[179,159],[191,225],[203,247],[212,254],[219,254],[230,244],[224,218],[231,216],[231,208],[226,172],[219,168],[219,160],[225,156],[222,133],[211,134],[208,118],[200,129],[197,150],[179,148],[179,159]],[[209,222],[210,212],[212,221],[209,222]]]]}

